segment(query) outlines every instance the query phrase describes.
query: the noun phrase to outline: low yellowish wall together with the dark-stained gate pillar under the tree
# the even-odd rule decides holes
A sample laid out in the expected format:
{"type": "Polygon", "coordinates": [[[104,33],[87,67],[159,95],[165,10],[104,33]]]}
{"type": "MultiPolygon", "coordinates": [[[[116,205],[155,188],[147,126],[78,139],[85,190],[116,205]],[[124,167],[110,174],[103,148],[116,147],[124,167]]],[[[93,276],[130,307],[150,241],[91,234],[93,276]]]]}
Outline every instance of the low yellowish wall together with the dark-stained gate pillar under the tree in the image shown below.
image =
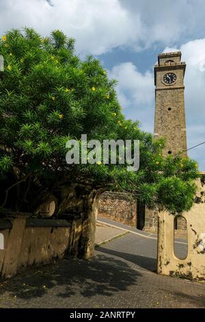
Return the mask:
{"type": "Polygon", "coordinates": [[[49,207],[56,199],[59,219],[36,219],[31,218],[33,214],[5,210],[1,216],[7,220],[0,219],[0,276],[10,277],[22,267],[50,262],[66,253],[85,259],[92,257],[102,191],[105,188],[94,188],[87,182],[73,183],[68,177],[68,182],[47,197],[35,212],[38,216],[51,215],[53,209],[49,207]]]}

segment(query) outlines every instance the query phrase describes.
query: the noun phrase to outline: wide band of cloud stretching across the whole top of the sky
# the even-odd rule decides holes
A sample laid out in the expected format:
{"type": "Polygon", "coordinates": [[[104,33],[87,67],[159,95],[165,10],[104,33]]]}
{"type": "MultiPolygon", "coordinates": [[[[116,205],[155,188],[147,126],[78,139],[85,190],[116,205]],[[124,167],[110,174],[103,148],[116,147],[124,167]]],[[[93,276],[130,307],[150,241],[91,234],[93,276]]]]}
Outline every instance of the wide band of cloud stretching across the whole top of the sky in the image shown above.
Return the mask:
{"type": "Polygon", "coordinates": [[[61,29],[77,39],[78,53],[94,55],[170,46],[205,27],[204,0],[0,0],[0,9],[0,34],[25,25],[43,35],[61,29]]]}

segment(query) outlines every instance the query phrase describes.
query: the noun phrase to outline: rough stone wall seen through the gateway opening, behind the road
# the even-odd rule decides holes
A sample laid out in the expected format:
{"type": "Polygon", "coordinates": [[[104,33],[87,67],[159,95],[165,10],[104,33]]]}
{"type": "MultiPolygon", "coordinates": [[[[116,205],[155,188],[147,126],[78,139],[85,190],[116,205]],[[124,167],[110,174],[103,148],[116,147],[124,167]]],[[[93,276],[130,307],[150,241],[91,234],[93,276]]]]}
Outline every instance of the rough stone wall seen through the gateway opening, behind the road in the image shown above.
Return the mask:
{"type": "Polygon", "coordinates": [[[100,195],[98,215],[136,227],[137,201],[127,193],[107,191],[100,195]]]}

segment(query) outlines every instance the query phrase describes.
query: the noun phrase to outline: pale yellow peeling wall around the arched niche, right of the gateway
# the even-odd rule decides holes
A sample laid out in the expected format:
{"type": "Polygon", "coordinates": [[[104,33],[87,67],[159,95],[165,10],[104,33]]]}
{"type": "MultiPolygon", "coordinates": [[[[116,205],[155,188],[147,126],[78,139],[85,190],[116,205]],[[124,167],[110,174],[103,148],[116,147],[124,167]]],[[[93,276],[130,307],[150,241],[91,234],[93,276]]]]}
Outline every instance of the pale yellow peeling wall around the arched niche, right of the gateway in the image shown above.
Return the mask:
{"type": "Polygon", "coordinates": [[[174,216],[159,213],[157,271],[189,280],[205,280],[205,203],[195,203],[183,216],[187,220],[188,254],[180,260],[174,253],[174,216]]]}

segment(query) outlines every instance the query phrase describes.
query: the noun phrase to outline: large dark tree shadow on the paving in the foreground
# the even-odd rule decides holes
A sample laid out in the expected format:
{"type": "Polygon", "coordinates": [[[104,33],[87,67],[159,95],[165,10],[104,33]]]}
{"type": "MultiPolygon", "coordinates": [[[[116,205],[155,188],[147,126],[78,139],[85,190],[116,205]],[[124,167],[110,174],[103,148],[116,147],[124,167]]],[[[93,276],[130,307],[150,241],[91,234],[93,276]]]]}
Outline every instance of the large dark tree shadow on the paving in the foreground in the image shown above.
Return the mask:
{"type": "Polygon", "coordinates": [[[139,276],[126,262],[111,256],[97,254],[90,261],[70,258],[27,269],[10,280],[0,281],[0,299],[3,295],[27,300],[46,293],[49,296],[53,288],[57,297],[111,296],[137,284],[139,276]]]}

